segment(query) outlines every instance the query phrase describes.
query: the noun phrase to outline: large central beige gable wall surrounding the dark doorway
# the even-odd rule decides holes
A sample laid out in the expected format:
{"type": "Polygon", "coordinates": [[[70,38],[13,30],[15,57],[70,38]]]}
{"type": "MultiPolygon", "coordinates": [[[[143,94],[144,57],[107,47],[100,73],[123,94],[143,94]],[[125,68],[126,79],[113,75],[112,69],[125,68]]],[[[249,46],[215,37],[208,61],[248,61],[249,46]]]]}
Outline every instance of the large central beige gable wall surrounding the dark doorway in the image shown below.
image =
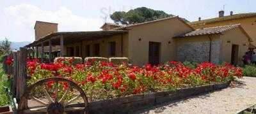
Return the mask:
{"type": "Polygon", "coordinates": [[[161,43],[160,62],[173,61],[176,58],[173,36],[192,31],[191,27],[178,18],[170,18],[154,23],[135,25],[129,29],[129,59],[133,64],[148,63],[149,41],[161,43]],[[141,41],[139,41],[141,39],[141,41]],[[170,41],[170,44],[168,43],[170,41]]]}

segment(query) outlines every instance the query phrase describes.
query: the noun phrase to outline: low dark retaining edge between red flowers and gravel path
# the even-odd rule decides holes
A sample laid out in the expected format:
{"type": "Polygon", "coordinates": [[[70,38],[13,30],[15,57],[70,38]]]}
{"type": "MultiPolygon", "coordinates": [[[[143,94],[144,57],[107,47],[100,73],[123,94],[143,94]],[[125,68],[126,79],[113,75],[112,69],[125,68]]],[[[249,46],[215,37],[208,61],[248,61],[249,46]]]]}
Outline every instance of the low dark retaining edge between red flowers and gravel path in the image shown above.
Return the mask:
{"type": "Polygon", "coordinates": [[[136,95],[108,99],[89,103],[89,113],[132,113],[148,106],[154,106],[160,103],[166,103],[177,99],[205,94],[214,90],[225,89],[230,82],[215,85],[205,85],[202,87],[193,87],[178,89],[166,92],[154,92],[145,95],[136,95]]]}

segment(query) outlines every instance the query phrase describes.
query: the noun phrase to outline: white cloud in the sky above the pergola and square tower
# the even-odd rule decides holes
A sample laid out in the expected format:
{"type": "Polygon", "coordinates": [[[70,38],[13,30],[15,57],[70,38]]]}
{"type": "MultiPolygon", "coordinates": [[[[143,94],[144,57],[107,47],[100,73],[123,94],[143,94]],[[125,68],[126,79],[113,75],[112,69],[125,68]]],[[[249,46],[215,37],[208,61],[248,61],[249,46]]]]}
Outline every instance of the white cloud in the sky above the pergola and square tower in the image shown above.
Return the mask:
{"type": "Polygon", "coordinates": [[[59,31],[97,31],[102,25],[101,18],[81,17],[64,6],[56,11],[45,11],[31,4],[19,4],[4,8],[4,15],[12,27],[11,41],[33,41],[36,20],[56,22],[59,31]]]}

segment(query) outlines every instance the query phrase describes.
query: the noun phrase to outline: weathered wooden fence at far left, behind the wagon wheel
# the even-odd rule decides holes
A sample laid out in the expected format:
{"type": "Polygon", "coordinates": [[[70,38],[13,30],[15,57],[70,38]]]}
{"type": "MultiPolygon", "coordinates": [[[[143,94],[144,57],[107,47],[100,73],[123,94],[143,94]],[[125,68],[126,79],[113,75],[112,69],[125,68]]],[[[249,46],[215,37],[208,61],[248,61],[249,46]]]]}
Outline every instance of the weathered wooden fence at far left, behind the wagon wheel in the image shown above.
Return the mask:
{"type": "Polygon", "coordinates": [[[12,95],[16,97],[19,102],[20,97],[26,91],[27,88],[27,71],[26,64],[28,59],[27,48],[20,47],[17,52],[12,52],[9,55],[3,57],[3,68],[8,75],[12,75],[12,95]],[[8,57],[12,57],[12,66],[7,66],[4,62],[8,57]]]}

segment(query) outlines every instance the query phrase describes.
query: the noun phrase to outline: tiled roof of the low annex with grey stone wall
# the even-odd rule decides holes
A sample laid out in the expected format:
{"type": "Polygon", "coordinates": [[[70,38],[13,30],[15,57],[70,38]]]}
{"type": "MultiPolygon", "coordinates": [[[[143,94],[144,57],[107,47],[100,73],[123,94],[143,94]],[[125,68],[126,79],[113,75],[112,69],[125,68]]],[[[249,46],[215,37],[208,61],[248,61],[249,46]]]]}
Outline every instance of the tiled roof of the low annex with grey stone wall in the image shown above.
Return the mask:
{"type": "Polygon", "coordinates": [[[208,27],[204,29],[196,29],[195,31],[188,32],[186,34],[182,34],[176,37],[189,37],[189,36],[200,36],[200,35],[208,35],[208,34],[221,34],[224,31],[228,31],[234,29],[236,27],[240,27],[240,24],[234,25],[223,25],[217,27],[208,27]]]}

